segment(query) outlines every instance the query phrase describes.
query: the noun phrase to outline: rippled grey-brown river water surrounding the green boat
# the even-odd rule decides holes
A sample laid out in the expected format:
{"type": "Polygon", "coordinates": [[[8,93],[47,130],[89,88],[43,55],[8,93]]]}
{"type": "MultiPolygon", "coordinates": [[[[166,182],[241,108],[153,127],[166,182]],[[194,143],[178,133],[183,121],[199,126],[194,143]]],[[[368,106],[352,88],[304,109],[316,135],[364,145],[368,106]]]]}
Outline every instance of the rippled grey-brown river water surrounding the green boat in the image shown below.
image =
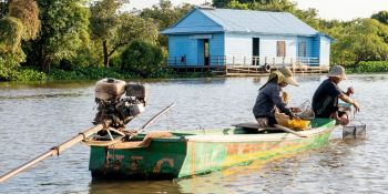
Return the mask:
{"type": "MultiPolygon", "coordinates": [[[[310,99],[325,79],[297,76],[287,86],[290,103],[310,99]]],[[[266,78],[146,81],[151,89],[146,112],[129,129],[139,129],[175,102],[172,112],[149,130],[229,126],[254,121],[252,106],[266,78]]],[[[135,81],[137,82],[137,81],[135,81]]],[[[341,131],[328,146],[267,163],[254,162],[207,175],[175,181],[92,181],[89,147],[78,144],[59,157],[0,184],[0,193],[387,193],[388,133],[385,103],[388,75],[350,75],[361,104],[357,115],[367,124],[368,139],[344,142],[341,131]]],[[[0,83],[0,174],[90,127],[95,114],[94,82],[0,83]]]]}

